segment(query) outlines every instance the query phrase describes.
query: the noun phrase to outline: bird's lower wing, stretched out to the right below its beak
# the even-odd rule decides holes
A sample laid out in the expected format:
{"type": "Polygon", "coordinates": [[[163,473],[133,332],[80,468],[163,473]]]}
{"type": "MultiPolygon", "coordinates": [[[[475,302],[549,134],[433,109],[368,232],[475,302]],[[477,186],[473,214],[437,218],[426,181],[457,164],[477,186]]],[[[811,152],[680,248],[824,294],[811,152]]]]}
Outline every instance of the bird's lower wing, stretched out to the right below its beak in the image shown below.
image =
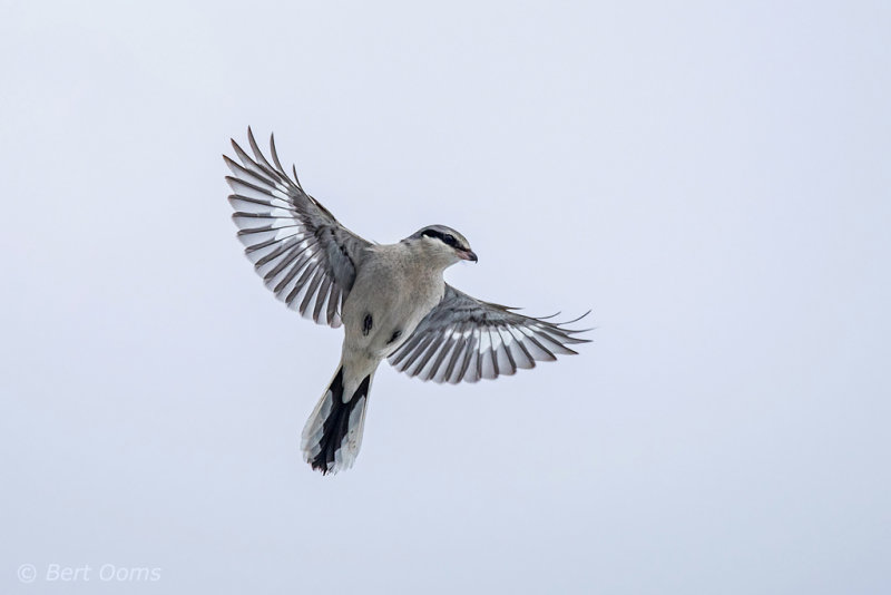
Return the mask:
{"type": "Polygon", "coordinates": [[[588,342],[574,336],[584,331],[569,330],[567,323],[523,316],[515,310],[447,284],[442,301],[390,354],[390,363],[421,380],[476,382],[533,368],[536,361],[556,360],[557,353],[576,353],[567,345],[588,342]]]}

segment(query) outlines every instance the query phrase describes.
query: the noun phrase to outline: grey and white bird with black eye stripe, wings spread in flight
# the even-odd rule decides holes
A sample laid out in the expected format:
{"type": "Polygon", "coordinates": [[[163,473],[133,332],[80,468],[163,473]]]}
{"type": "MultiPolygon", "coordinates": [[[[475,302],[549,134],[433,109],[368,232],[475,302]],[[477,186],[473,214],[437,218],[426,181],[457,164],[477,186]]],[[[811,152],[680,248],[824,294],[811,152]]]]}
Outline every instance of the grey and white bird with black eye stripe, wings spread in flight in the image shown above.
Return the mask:
{"type": "Polygon", "coordinates": [[[232,139],[233,221],[266,287],[319,324],[344,328],[341,360],[301,433],[301,451],[322,475],[349,469],[362,446],[369,392],[380,363],[421,380],[459,383],[513,374],[586,343],[558,314],[532,318],[517,308],[471,298],[443,272],[478,262],[458,231],[428,225],[394,244],[378,244],[344,227],[282,167],[270,136],[268,160],[253,130],[253,154],[232,139]]]}

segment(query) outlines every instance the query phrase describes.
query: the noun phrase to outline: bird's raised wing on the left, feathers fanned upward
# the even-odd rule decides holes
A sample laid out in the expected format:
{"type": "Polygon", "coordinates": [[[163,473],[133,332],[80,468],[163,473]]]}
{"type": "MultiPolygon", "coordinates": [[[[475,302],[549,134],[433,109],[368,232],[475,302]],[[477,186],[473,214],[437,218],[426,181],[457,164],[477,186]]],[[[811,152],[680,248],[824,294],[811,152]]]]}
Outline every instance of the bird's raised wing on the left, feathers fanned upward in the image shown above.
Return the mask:
{"type": "MultiPolygon", "coordinates": [[[[370,242],[341,225],[315,198],[303,192],[294,170],[291,179],[270,138],[270,163],[251,128],[247,139],[254,157],[235,140],[236,163],[226,182],[238,238],[254,269],[276,298],[320,324],[341,325],[343,302],[355,281],[356,266],[370,242]]],[[[293,168],[292,168],[293,169],[293,168]]]]}

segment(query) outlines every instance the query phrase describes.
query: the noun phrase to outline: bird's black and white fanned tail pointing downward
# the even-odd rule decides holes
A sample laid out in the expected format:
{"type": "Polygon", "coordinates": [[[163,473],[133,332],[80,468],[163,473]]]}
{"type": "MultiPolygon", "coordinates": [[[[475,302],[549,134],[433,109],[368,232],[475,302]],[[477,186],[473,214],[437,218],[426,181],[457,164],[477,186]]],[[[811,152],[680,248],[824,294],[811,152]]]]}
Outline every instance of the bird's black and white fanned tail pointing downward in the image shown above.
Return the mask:
{"type": "MultiPolygon", "coordinates": [[[[352,384],[344,379],[343,365],[337,369],[325,393],[313,409],[303,427],[301,450],[303,458],[322,475],[335,474],[353,466],[362,446],[371,379],[362,378],[349,394],[352,384]]],[[[355,384],[353,384],[355,386],[355,384]]]]}

